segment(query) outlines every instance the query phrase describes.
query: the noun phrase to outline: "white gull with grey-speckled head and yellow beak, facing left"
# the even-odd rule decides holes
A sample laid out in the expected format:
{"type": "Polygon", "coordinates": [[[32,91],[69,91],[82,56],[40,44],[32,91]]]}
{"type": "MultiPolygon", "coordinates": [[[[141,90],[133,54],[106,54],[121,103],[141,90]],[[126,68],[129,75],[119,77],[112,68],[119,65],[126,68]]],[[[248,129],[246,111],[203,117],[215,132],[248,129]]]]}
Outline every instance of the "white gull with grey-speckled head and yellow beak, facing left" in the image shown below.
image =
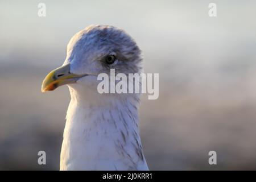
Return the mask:
{"type": "Polygon", "coordinates": [[[67,46],[64,64],[44,78],[42,92],[68,85],[60,170],[148,170],[139,135],[138,93],[98,93],[100,73],[141,73],[141,49],[122,29],[91,25],[67,46]]]}

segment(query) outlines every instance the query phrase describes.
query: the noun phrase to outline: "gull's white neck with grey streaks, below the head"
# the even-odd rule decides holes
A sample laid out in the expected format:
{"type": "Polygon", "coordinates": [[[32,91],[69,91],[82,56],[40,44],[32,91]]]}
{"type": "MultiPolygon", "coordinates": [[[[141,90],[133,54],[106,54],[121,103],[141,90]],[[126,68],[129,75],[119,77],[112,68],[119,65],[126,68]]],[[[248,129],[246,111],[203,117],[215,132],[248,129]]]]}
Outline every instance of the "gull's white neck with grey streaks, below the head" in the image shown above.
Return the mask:
{"type": "Polygon", "coordinates": [[[115,97],[98,104],[90,98],[87,102],[82,97],[71,98],[61,168],[148,169],[139,137],[138,97],[115,97]]]}

